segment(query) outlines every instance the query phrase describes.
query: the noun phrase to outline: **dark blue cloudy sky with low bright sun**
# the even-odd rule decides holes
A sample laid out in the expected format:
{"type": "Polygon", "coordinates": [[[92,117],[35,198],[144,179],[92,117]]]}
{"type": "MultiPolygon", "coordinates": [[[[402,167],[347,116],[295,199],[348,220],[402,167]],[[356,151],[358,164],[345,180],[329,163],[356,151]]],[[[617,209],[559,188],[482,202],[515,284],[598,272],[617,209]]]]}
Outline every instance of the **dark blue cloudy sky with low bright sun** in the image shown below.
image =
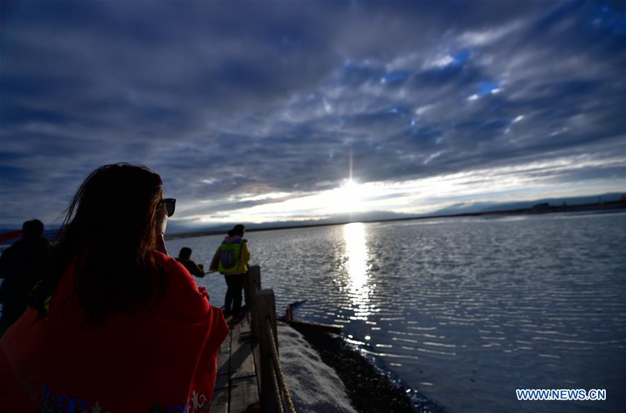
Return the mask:
{"type": "Polygon", "coordinates": [[[114,162],[175,228],[626,190],[623,2],[0,8],[0,228],[114,162]]]}

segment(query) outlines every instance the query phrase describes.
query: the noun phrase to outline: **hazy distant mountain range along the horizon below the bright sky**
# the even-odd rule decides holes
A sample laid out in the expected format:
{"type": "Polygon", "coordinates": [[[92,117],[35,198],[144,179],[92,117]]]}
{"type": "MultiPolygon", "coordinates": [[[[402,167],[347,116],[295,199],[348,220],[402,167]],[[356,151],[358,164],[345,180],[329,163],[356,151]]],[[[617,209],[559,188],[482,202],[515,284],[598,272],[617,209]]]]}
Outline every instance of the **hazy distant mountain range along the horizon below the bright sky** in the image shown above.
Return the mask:
{"type": "MultiPolygon", "coordinates": [[[[264,222],[261,224],[253,224],[242,222],[247,229],[263,229],[263,228],[285,228],[295,226],[317,226],[317,225],[332,225],[343,224],[345,222],[352,221],[385,221],[389,219],[410,219],[410,218],[423,218],[423,217],[440,217],[441,215],[462,215],[462,214],[477,214],[483,212],[496,212],[496,211],[508,211],[508,210],[521,210],[526,208],[532,208],[533,205],[539,203],[549,203],[550,205],[584,205],[597,202],[618,201],[620,197],[624,196],[623,193],[609,193],[593,196],[572,196],[567,198],[543,198],[536,199],[534,201],[516,201],[516,202],[467,202],[467,203],[455,203],[447,208],[429,212],[428,214],[400,214],[398,212],[389,211],[370,211],[370,212],[357,212],[354,214],[336,215],[327,219],[308,219],[306,221],[276,221],[276,222],[264,222]]],[[[175,220],[168,223],[169,235],[176,235],[182,233],[224,233],[228,229],[233,228],[233,224],[216,224],[205,227],[190,227],[177,224],[175,220]]],[[[6,233],[8,231],[15,231],[19,228],[0,228],[0,233],[6,233]]],[[[58,228],[49,227],[46,228],[45,235],[51,237],[56,233],[58,228]]]]}

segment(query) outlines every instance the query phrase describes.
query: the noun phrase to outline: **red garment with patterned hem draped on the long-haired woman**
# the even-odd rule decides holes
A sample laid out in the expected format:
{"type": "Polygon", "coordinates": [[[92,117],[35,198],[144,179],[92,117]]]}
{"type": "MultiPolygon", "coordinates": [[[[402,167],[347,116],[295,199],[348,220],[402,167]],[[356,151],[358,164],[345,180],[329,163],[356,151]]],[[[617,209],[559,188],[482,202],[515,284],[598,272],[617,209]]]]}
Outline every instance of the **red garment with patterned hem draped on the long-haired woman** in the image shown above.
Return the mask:
{"type": "Polygon", "coordinates": [[[155,258],[162,301],[82,329],[70,265],[47,319],[33,323],[29,308],[0,340],[0,412],[208,412],[224,315],[185,267],[155,258]]]}

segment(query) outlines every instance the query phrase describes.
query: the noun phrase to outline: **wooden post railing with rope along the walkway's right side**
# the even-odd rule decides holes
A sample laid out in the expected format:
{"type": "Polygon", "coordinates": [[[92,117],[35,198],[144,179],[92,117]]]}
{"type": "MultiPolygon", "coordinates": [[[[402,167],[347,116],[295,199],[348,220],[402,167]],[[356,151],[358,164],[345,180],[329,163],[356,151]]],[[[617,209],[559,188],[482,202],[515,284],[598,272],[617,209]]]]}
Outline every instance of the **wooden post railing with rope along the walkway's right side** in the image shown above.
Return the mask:
{"type": "Polygon", "coordinates": [[[274,291],[260,288],[260,268],[253,265],[244,282],[244,293],[246,304],[251,310],[254,362],[260,383],[261,410],[264,413],[295,413],[279,359],[274,291]]]}

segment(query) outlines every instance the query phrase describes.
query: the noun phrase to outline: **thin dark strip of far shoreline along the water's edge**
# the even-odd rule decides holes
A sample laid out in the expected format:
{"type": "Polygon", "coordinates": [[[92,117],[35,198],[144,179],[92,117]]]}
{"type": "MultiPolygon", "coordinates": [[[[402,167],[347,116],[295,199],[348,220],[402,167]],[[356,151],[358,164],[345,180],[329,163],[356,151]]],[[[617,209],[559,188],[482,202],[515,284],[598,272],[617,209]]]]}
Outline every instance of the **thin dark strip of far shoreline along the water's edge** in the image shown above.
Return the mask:
{"type": "MultiPolygon", "coordinates": [[[[267,226],[264,228],[246,228],[246,232],[257,231],[277,231],[281,229],[297,229],[297,228],[313,228],[318,226],[333,226],[333,225],[345,225],[351,222],[391,222],[391,221],[412,221],[417,219],[441,219],[441,218],[457,218],[457,217],[485,217],[485,216],[507,216],[507,215],[539,215],[550,214],[554,212],[592,212],[592,211],[607,211],[613,212],[618,210],[626,210],[626,199],[620,199],[618,201],[607,201],[597,203],[586,203],[579,205],[549,205],[547,203],[539,203],[532,208],[520,208],[517,210],[500,210],[490,212],[466,212],[462,214],[451,215],[427,215],[419,217],[402,217],[402,218],[390,218],[390,219],[366,219],[359,221],[342,221],[342,222],[327,222],[320,224],[305,224],[305,225],[288,225],[288,226],[267,226]]],[[[208,235],[223,235],[226,230],[214,230],[214,231],[197,231],[189,233],[178,233],[166,235],[166,240],[176,240],[179,238],[191,238],[191,237],[205,237],[208,235]]]]}

